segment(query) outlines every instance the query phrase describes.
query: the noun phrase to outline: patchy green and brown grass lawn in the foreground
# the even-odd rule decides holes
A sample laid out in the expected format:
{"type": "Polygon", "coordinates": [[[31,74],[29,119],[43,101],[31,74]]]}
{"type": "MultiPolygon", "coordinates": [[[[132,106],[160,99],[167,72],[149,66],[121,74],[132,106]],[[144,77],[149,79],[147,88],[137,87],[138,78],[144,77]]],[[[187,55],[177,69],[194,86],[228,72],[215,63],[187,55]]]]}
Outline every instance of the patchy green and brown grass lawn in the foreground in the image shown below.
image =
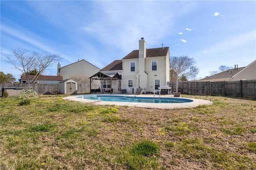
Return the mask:
{"type": "Polygon", "coordinates": [[[0,167],[256,169],[256,100],[189,96],[193,109],[0,99],[0,167]]]}

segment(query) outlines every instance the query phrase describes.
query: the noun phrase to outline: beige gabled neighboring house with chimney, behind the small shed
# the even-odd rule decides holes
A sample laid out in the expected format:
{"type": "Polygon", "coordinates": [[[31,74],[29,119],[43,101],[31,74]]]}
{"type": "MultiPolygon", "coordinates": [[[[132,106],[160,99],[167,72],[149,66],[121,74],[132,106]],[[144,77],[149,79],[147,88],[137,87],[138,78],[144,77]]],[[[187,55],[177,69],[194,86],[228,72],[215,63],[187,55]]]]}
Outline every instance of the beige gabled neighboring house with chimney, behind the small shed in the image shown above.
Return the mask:
{"type": "MultiPolygon", "coordinates": [[[[79,82],[77,79],[81,78],[88,81],[88,78],[98,71],[100,71],[100,68],[82,59],[64,67],[60,67],[60,63],[58,63],[57,75],[62,76],[63,79],[72,78],[79,82]]],[[[92,82],[92,89],[98,89],[99,87],[100,81],[94,80],[92,82]]]]}

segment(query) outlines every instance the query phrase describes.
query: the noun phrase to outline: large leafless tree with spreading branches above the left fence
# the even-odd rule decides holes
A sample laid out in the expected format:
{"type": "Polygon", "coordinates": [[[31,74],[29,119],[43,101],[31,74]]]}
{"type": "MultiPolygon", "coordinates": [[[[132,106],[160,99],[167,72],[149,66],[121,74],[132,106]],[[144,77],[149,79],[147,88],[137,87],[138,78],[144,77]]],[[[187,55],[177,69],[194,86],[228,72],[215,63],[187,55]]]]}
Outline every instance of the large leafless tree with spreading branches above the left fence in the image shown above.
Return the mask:
{"type": "MultiPolygon", "coordinates": [[[[4,54],[3,54],[4,55],[4,54]]],[[[63,59],[60,54],[48,54],[46,52],[31,51],[28,49],[14,49],[12,55],[4,55],[7,62],[11,63],[16,69],[26,75],[28,83],[34,83],[39,75],[42,75],[46,68],[63,59]],[[28,74],[33,70],[37,70],[36,76],[28,74]]]]}

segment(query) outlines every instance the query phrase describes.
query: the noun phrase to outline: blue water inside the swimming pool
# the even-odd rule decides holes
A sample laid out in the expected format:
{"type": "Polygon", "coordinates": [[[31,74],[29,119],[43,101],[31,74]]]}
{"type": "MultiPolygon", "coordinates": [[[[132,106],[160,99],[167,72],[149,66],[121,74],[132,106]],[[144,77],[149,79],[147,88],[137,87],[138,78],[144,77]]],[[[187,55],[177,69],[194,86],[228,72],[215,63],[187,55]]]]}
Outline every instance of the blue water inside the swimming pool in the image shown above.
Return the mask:
{"type": "Polygon", "coordinates": [[[114,101],[114,102],[136,102],[136,103],[188,103],[193,100],[172,98],[172,97],[132,97],[119,95],[83,95],[77,98],[90,99],[96,101],[114,101]]]}

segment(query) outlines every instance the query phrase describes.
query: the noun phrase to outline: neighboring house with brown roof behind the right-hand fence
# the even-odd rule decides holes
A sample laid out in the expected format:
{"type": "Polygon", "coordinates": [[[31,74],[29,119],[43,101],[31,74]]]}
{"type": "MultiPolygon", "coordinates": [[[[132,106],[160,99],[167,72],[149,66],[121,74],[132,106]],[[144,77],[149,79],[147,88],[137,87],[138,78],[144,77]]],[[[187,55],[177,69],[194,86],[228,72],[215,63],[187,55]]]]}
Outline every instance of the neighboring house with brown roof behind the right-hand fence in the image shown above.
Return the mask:
{"type": "Polygon", "coordinates": [[[229,69],[217,73],[199,81],[238,81],[238,80],[255,80],[256,79],[256,60],[246,67],[229,69]]]}

